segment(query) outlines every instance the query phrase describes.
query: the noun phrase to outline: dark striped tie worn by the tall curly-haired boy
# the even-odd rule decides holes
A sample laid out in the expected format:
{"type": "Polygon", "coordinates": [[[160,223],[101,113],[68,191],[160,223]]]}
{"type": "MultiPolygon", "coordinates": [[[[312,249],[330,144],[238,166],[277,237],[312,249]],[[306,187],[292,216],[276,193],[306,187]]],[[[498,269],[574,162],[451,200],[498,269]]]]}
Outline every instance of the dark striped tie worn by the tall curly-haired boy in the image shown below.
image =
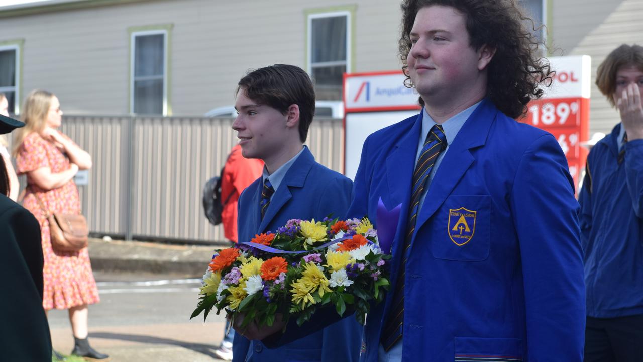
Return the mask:
{"type": "Polygon", "coordinates": [[[400,338],[402,338],[403,322],[404,322],[404,275],[406,274],[406,260],[408,259],[408,249],[411,246],[411,238],[415,232],[415,222],[417,220],[417,213],[420,207],[420,199],[424,192],[426,179],[431,173],[431,169],[435,165],[435,160],[442,151],[446,149],[446,136],[444,129],[439,124],[431,128],[424,146],[422,153],[417,160],[415,171],[413,172],[413,186],[411,193],[411,202],[409,204],[408,222],[406,223],[406,236],[404,238],[404,252],[402,262],[397,272],[397,283],[391,301],[391,308],[388,310],[388,318],[384,329],[382,330],[381,343],[384,349],[388,352],[400,338]]]}

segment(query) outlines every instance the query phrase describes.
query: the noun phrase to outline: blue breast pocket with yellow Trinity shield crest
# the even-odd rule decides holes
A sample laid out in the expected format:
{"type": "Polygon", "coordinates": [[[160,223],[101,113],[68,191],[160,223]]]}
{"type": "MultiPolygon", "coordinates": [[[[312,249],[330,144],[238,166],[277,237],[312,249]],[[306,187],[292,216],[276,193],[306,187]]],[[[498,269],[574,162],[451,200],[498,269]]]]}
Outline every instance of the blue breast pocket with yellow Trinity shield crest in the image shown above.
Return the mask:
{"type": "Polygon", "coordinates": [[[451,195],[433,214],[433,258],[480,262],[489,257],[491,196],[451,195]]]}

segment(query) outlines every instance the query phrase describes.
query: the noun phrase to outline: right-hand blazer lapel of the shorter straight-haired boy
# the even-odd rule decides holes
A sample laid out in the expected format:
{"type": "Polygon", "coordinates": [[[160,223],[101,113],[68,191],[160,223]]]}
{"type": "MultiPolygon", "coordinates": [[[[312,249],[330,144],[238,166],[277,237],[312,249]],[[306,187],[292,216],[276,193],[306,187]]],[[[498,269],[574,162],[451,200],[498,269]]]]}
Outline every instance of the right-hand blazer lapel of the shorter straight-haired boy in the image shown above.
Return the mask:
{"type": "MultiPolygon", "coordinates": [[[[293,194],[290,191],[290,187],[303,187],[305,183],[306,176],[309,171],[311,171],[312,164],[315,162],[315,158],[312,156],[311,151],[304,146],[302,154],[294,161],[290,169],[284,176],[279,187],[275,190],[272,200],[266,209],[266,214],[264,219],[261,220],[259,226],[259,233],[266,231],[266,228],[270,222],[275,218],[279,211],[284,207],[286,202],[293,197],[293,194]]],[[[258,202],[257,202],[257,205],[258,202]]],[[[261,213],[259,213],[259,218],[261,218],[261,213]]],[[[283,225],[282,225],[283,226],[283,225]]]]}

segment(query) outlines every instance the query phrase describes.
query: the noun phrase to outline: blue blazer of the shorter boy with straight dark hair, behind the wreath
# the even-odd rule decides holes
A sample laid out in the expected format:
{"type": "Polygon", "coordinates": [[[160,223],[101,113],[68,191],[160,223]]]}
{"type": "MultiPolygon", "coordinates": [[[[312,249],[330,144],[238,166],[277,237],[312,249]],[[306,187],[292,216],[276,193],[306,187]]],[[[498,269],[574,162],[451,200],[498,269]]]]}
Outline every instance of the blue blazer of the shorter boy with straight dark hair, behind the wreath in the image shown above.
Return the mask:
{"type": "MultiPolygon", "coordinates": [[[[259,209],[262,187],[262,178],[258,178],[239,197],[239,242],[249,242],[255,234],[274,233],[294,218],[322,220],[331,213],[343,217],[350,204],[352,182],[315,162],[305,148],[276,189],[263,220],[259,209]]],[[[275,349],[236,333],[233,361],[357,362],[361,336],[362,327],[352,316],[275,349]]]]}

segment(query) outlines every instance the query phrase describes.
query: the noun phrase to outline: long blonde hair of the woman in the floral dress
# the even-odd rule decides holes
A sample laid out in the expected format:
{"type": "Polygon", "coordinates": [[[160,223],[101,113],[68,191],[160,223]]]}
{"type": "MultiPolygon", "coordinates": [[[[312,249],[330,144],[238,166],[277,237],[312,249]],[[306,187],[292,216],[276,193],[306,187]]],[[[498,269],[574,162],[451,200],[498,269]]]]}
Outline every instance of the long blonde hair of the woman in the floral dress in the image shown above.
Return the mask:
{"type": "Polygon", "coordinates": [[[32,90],[24,99],[22,117],[24,127],[17,129],[14,138],[14,157],[23,144],[24,138],[33,132],[40,132],[45,128],[47,113],[54,95],[46,90],[32,90]]]}

